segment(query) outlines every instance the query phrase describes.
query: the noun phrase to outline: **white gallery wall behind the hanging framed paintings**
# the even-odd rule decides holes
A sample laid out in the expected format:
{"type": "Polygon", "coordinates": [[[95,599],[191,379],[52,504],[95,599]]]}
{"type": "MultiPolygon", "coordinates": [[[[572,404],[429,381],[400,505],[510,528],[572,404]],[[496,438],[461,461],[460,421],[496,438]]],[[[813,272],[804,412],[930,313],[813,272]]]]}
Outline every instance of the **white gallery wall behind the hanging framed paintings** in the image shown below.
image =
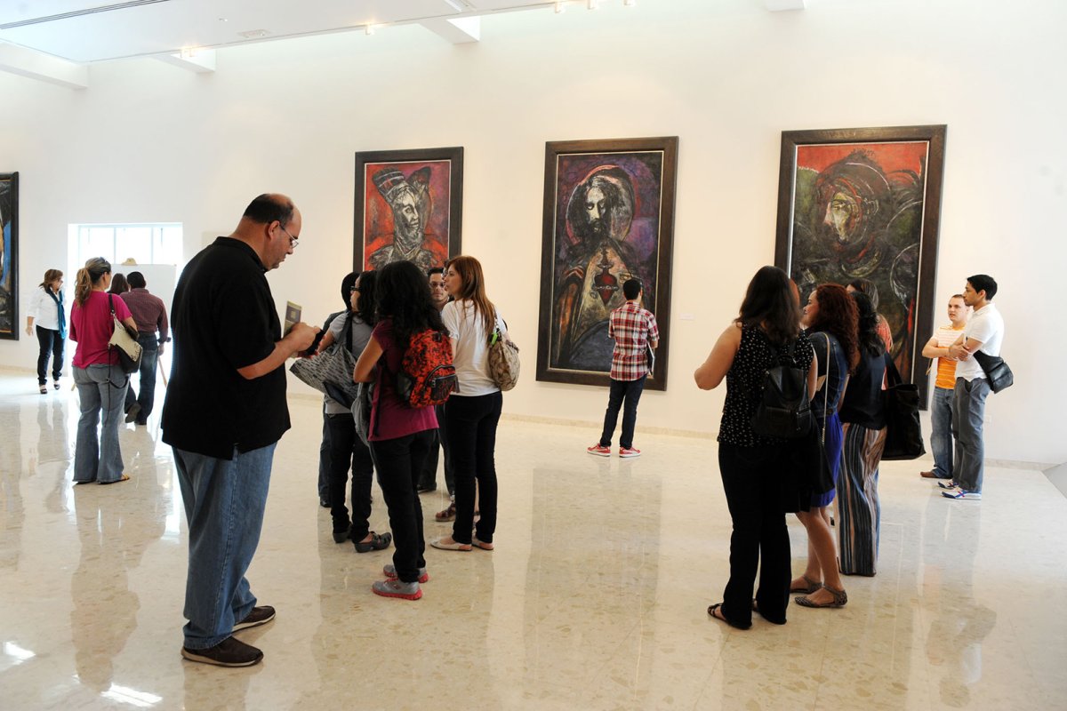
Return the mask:
{"type": "MultiPolygon", "coordinates": [[[[646,391],[638,430],[713,433],[724,393],[697,390],[691,373],[774,261],[781,131],[946,124],[938,312],[966,276],[993,275],[1017,375],[990,399],[986,455],[1061,463],[1064,27],[1058,0],[808,0],[785,13],[615,0],[484,17],[481,42],[463,46],[408,26],[221,49],[209,75],[96,64],[83,91],[0,75],[20,300],[67,263],[68,224],[181,222],[188,258],[278,191],[304,225],[271,287],[321,321],[351,268],[353,152],[463,146],[463,252],[485,266],[526,368],[505,411],[596,422],[605,390],[534,379],[544,143],[678,135],[670,376],[646,391]]],[[[35,357],[25,333],[0,341],[0,366],[35,357]]]]}

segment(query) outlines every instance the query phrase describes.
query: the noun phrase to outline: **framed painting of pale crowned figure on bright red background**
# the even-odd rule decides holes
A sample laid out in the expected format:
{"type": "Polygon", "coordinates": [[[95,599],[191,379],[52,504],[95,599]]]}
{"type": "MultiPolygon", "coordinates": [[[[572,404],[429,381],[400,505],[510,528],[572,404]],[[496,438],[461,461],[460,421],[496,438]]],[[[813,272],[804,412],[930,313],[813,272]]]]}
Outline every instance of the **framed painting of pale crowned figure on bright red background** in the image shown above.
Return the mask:
{"type": "Polygon", "coordinates": [[[462,227],[462,147],[355,153],[355,271],[444,266],[460,254],[462,227]]]}

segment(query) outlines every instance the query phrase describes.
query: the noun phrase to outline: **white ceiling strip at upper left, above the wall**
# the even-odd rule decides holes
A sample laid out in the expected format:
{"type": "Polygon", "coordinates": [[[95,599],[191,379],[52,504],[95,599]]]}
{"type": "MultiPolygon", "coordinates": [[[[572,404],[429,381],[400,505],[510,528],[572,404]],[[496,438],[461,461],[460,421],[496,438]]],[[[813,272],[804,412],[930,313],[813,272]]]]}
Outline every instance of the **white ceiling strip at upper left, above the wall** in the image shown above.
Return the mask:
{"type": "Polygon", "coordinates": [[[433,29],[447,20],[555,4],[551,0],[0,0],[0,44],[85,63],[363,30],[368,25],[421,22],[433,29]],[[266,34],[241,34],[257,31],[266,34]]]}

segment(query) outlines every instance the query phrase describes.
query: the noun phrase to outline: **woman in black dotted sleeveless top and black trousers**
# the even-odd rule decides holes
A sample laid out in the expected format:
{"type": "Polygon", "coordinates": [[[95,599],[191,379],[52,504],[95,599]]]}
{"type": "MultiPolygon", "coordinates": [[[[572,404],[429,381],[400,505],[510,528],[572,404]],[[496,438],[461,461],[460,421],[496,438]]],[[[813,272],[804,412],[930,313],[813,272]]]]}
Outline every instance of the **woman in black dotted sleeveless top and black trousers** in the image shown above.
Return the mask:
{"type": "Polygon", "coordinates": [[[792,578],[784,503],[789,440],[758,435],[750,422],[767,369],[789,360],[808,371],[808,391],[813,392],[814,352],[800,332],[799,300],[785,272],[764,266],[749,282],[738,317],[694,374],[702,390],[727,381],[718,440],[719,472],[733,520],[730,581],[722,602],[710,607],[707,614],[738,629],[752,626],[753,610],[768,621],[785,624],[792,578]],[[753,599],[758,567],[760,585],[753,599]]]}

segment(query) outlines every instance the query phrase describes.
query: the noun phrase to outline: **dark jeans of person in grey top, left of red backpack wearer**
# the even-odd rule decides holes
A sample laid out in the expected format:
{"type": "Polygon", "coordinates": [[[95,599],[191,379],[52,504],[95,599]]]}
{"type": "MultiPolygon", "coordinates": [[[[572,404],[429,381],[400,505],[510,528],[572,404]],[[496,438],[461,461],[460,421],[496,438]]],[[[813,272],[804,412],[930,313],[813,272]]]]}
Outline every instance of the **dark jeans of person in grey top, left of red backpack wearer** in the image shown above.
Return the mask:
{"type": "Polygon", "coordinates": [[[330,425],[330,514],[334,531],[351,530],[353,542],[370,533],[370,486],[375,481],[375,463],[370,450],[355,434],[355,420],[350,414],[327,415],[330,425]],[[345,506],[345,484],[352,469],[352,518],[345,506]]]}

